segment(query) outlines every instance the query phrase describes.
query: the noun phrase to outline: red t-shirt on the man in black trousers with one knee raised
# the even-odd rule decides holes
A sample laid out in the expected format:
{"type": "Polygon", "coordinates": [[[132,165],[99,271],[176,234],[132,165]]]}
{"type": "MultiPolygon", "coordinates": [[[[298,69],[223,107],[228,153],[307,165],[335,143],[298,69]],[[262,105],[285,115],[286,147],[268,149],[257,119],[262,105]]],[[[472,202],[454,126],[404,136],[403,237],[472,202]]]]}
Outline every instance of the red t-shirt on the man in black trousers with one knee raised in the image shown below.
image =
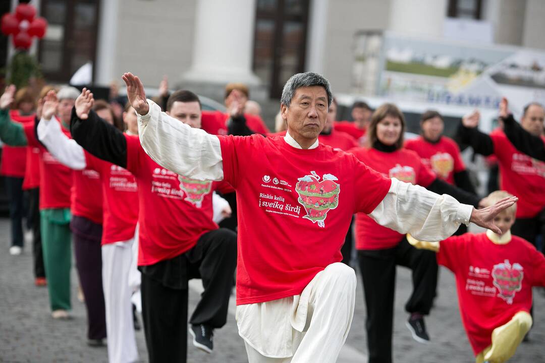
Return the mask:
{"type": "Polygon", "coordinates": [[[138,265],[172,259],[195,246],[204,233],[217,229],[212,192],[225,183],[180,182],[177,174],[144,152],[138,136],[125,134],[125,138],[127,170],[138,183],[138,265]]]}

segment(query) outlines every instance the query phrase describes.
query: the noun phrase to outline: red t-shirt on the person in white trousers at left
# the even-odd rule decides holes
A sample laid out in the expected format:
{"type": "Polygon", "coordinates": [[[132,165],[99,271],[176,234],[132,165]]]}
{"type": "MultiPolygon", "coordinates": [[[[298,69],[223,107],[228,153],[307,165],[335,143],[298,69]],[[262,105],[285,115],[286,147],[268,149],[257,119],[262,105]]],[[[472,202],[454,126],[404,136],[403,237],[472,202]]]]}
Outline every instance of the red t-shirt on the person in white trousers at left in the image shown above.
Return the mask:
{"type": "Polygon", "coordinates": [[[129,241],[138,222],[138,188],[130,171],[85,152],[87,169],[100,175],[104,196],[102,245],[129,241]]]}

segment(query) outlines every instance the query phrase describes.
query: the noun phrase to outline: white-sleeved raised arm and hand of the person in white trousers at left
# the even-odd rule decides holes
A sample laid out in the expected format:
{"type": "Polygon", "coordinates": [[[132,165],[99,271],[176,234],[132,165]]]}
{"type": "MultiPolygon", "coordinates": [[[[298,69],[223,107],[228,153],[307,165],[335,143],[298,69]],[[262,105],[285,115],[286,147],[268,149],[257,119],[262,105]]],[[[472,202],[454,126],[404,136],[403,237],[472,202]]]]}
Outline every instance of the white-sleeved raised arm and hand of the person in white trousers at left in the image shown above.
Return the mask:
{"type": "Polygon", "coordinates": [[[87,163],[83,148],[62,132],[59,122],[53,116],[57,105],[57,94],[49,91],[45,96],[42,118],[37,127],[38,139],[60,163],[70,169],[85,169],[87,163]]]}

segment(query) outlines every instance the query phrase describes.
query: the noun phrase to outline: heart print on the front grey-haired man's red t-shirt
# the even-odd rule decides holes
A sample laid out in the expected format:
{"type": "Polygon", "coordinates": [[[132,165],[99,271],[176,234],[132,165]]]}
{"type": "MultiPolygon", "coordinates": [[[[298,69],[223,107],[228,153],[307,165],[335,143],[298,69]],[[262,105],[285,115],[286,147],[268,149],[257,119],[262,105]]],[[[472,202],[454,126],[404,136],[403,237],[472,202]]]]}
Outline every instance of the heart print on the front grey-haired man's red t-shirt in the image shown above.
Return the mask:
{"type": "Polygon", "coordinates": [[[299,194],[297,201],[307,213],[303,218],[318,223],[320,227],[325,226],[324,220],[329,210],[337,208],[338,205],[341,186],[335,180],[338,180],[335,175],[324,174],[320,181],[316,171],[311,171],[311,175],[298,179],[295,184],[295,191],[299,194]]]}

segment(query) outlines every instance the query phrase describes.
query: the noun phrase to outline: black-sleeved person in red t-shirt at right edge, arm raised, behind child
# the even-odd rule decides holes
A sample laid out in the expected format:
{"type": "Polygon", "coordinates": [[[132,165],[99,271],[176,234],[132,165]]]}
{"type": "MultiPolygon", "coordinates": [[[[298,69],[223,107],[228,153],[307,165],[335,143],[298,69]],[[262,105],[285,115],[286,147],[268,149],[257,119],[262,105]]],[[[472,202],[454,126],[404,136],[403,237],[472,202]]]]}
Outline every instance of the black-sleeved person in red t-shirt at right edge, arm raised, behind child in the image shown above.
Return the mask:
{"type": "MultiPolygon", "coordinates": [[[[521,125],[524,130],[540,137],[544,115],[543,107],[532,103],[525,107],[521,125]]],[[[507,119],[507,116],[507,106],[501,102],[500,117],[507,119]]],[[[500,188],[520,198],[517,221],[512,227],[513,235],[536,245],[536,237],[543,224],[540,215],[545,210],[545,163],[518,151],[503,131],[487,135],[477,130],[479,118],[479,112],[474,112],[462,119],[458,128],[459,140],[481,155],[494,154],[498,157],[500,188]]]]}

